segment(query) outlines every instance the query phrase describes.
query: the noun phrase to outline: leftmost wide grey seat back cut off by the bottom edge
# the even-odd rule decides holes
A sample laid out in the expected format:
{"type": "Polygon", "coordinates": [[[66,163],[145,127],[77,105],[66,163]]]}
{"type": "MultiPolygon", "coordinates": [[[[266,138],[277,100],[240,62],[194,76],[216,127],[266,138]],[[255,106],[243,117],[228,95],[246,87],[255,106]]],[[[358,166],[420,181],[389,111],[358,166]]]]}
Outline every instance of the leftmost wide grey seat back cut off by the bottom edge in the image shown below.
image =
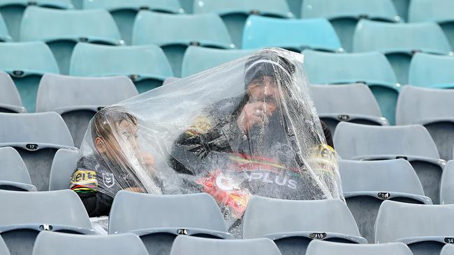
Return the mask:
{"type": "Polygon", "coordinates": [[[33,255],[147,255],[140,238],[132,233],[121,235],[74,235],[43,231],[36,238],[33,255]],[[80,249],[74,247],[81,244],[80,249]],[[82,245],[83,244],[83,245],[82,245]]]}

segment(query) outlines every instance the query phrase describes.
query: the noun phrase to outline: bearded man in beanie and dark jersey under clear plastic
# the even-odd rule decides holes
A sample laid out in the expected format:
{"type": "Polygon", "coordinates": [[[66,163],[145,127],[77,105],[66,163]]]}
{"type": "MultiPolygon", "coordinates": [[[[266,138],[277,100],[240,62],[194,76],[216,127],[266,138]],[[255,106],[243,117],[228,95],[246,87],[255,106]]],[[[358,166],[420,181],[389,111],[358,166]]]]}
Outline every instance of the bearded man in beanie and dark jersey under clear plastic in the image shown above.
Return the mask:
{"type": "Polygon", "coordinates": [[[312,105],[298,95],[297,86],[306,86],[295,83],[302,82],[294,77],[301,65],[286,54],[263,50],[250,56],[246,93],[207,107],[174,144],[173,169],[199,176],[196,186],[214,196],[230,222],[242,217],[251,195],[307,200],[342,194],[335,187],[330,131],[322,122],[325,144],[315,132],[319,120],[312,105]],[[307,140],[313,143],[309,150],[300,145],[307,140]]]}

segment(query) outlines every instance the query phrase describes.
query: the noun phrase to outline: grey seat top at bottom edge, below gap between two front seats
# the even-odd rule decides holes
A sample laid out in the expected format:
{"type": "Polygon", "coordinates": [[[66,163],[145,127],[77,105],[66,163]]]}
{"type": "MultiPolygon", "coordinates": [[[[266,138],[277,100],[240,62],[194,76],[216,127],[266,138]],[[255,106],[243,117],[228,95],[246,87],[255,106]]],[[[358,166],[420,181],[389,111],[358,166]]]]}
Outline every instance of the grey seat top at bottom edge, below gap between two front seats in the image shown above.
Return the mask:
{"type": "Polygon", "coordinates": [[[250,240],[216,240],[209,238],[194,238],[191,236],[180,235],[173,242],[170,255],[198,255],[203,254],[217,255],[281,255],[277,246],[272,240],[258,238],[250,240]]]}

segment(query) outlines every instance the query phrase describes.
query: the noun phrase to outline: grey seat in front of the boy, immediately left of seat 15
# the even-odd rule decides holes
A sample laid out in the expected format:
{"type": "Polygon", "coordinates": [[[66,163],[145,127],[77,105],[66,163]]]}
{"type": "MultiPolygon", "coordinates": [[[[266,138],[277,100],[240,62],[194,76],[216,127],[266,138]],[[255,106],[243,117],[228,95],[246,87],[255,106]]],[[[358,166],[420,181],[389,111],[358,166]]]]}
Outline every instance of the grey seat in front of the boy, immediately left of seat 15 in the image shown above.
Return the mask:
{"type": "Polygon", "coordinates": [[[109,233],[136,233],[150,255],[169,254],[177,235],[230,239],[226,222],[206,193],[152,195],[120,191],[110,210],[109,233]]]}

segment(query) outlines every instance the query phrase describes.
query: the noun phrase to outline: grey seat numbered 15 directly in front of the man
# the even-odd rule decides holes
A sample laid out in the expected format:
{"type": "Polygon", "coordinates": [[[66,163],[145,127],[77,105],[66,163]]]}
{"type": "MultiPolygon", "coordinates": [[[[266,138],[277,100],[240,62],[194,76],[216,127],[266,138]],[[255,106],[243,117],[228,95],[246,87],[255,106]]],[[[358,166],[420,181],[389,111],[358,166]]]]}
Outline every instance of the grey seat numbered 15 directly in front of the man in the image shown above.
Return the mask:
{"type": "Polygon", "coordinates": [[[282,255],[305,254],[314,239],[367,243],[349,208],[337,199],[291,201],[254,196],[244,212],[243,238],[270,238],[282,255]]]}

